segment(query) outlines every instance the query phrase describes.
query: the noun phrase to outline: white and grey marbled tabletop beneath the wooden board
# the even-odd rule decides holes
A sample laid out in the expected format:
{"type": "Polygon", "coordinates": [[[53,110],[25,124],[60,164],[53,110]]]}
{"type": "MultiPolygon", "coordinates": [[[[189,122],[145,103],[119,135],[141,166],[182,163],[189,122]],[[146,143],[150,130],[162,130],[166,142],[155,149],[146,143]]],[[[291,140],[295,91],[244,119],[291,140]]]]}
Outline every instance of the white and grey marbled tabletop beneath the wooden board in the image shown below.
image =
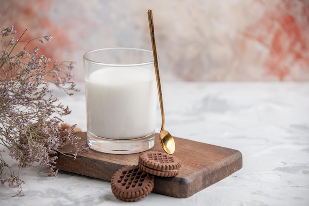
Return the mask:
{"type": "MultiPolygon", "coordinates": [[[[239,150],[243,168],[189,198],[151,193],[128,205],[309,205],[308,82],[174,82],[163,83],[162,89],[171,134],[239,150]]],[[[73,110],[64,120],[85,130],[84,92],[55,93],[73,110]]],[[[24,170],[21,175],[25,196],[11,197],[16,190],[0,186],[0,206],[124,204],[107,181],[66,172],[46,177],[24,170]]]]}

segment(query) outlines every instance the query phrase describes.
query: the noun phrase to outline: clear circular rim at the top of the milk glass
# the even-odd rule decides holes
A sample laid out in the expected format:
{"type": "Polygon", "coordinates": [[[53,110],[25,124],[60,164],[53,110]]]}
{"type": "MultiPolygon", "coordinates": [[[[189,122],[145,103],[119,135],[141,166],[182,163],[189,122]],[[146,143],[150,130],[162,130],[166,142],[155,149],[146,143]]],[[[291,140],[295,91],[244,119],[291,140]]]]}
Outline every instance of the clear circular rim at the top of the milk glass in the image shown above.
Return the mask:
{"type": "Polygon", "coordinates": [[[137,51],[143,51],[143,52],[153,54],[152,51],[147,50],[147,49],[129,48],[129,47],[114,47],[114,48],[100,48],[100,49],[88,51],[83,55],[83,59],[90,62],[90,63],[93,63],[93,64],[98,64],[98,65],[103,65],[103,66],[114,66],[114,67],[116,67],[116,66],[118,66],[118,67],[119,66],[120,67],[131,67],[131,66],[141,66],[141,65],[154,64],[154,59],[152,61],[147,61],[147,62],[143,62],[143,63],[135,63],[135,64],[111,64],[111,63],[98,62],[98,61],[94,61],[94,60],[87,58],[87,55],[89,55],[91,53],[98,52],[98,51],[106,51],[106,50],[137,50],[137,51]]]}

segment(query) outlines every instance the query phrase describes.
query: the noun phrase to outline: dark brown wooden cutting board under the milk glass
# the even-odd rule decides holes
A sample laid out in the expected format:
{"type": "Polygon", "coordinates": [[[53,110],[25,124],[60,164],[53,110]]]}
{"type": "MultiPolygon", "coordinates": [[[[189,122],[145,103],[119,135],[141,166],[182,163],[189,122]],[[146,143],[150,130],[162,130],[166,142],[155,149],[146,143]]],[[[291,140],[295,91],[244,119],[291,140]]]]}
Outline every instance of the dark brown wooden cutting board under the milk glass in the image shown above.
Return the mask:
{"type": "MultiPolygon", "coordinates": [[[[77,133],[81,143],[87,141],[86,132],[77,133]]],[[[242,168],[242,154],[233,149],[174,137],[176,151],[173,154],[181,161],[176,177],[154,177],[154,193],[177,198],[187,198],[200,190],[222,180],[242,168]]],[[[68,151],[65,146],[62,151],[68,151]]],[[[164,152],[159,135],[155,135],[152,151],[164,152]]],[[[74,160],[57,154],[56,168],[89,177],[110,181],[113,174],[125,165],[137,165],[140,153],[116,155],[89,150],[74,160]]]]}

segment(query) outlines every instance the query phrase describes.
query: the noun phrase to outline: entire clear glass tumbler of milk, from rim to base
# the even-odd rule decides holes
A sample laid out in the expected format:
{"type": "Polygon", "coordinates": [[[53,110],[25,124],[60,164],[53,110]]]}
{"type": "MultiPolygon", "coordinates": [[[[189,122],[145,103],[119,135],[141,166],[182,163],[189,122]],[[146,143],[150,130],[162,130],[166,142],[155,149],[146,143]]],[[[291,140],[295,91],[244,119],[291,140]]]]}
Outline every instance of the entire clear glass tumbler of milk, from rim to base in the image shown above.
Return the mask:
{"type": "Polygon", "coordinates": [[[112,154],[152,148],[157,109],[153,53],[135,48],[87,52],[84,77],[90,148],[112,154]]]}

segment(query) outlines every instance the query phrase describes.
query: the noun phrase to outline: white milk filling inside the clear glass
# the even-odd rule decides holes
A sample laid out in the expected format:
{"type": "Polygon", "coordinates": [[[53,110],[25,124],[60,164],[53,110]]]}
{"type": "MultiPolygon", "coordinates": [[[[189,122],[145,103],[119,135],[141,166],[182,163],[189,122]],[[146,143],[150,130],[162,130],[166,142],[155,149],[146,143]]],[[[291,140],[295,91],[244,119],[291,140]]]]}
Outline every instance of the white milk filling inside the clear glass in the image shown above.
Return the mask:
{"type": "Polygon", "coordinates": [[[87,131],[109,139],[144,137],[155,130],[155,75],[143,67],[109,67],[85,80],[87,131]]]}

